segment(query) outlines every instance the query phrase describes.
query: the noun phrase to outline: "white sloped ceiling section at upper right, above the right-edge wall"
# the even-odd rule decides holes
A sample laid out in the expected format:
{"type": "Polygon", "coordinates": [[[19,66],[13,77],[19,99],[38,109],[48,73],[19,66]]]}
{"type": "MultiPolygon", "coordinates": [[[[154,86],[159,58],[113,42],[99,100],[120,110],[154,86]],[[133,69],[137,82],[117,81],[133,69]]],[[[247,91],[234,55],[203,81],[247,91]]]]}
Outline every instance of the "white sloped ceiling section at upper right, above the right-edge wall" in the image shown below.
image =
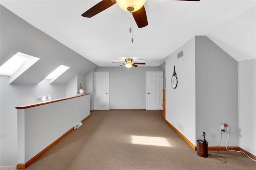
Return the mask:
{"type": "Polygon", "coordinates": [[[256,58],[256,1],[252,3],[253,8],[207,35],[236,61],[256,58]]]}

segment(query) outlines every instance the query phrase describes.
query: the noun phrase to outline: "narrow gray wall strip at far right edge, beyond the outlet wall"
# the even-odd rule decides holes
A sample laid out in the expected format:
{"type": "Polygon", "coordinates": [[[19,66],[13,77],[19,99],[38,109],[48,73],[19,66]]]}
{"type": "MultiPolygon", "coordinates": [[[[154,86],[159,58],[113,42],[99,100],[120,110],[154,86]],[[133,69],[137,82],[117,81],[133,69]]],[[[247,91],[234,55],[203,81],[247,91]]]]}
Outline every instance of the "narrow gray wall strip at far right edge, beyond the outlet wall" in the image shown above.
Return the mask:
{"type": "Polygon", "coordinates": [[[238,143],[256,155],[256,59],[238,62],[238,143]]]}

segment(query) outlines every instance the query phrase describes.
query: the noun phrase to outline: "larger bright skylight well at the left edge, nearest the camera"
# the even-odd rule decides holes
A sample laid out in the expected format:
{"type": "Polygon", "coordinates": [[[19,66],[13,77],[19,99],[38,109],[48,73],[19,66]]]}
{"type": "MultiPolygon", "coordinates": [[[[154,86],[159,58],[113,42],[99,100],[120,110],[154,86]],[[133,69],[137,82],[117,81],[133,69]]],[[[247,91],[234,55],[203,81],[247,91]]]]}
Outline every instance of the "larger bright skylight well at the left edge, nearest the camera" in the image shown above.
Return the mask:
{"type": "Polygon", "coordinates": [[[18,52],[1,65],[0,75],[10,76],[9,83],[12,83],[39,59],[38,57],[18,52]]]}

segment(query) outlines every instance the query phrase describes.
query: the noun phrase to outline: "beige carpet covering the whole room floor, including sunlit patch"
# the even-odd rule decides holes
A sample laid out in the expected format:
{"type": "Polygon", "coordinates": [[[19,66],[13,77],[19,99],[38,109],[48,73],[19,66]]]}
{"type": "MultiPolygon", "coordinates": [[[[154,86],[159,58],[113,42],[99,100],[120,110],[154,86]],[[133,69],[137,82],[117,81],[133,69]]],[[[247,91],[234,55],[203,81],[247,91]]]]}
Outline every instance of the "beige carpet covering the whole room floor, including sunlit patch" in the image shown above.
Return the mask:
{"type": "Polygon", "coordinates": [[[162,118],[162,111],[94,111],[28,170],[256,169],[242,153],[202,158],[162,118]]]}

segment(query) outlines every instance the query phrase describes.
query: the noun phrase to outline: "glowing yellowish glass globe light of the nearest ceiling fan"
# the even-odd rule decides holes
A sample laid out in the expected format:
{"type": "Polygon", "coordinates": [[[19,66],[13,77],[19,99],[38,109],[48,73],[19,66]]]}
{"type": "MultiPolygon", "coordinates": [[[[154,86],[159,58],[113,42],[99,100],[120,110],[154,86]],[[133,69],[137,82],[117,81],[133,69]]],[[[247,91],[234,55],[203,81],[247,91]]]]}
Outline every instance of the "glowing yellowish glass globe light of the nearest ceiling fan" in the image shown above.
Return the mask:
{"type": "Polygon", "coordinates": [[[146,0],[116,0],[118,6],[126,12],[138,11],[145,2],[146,0]]]}

